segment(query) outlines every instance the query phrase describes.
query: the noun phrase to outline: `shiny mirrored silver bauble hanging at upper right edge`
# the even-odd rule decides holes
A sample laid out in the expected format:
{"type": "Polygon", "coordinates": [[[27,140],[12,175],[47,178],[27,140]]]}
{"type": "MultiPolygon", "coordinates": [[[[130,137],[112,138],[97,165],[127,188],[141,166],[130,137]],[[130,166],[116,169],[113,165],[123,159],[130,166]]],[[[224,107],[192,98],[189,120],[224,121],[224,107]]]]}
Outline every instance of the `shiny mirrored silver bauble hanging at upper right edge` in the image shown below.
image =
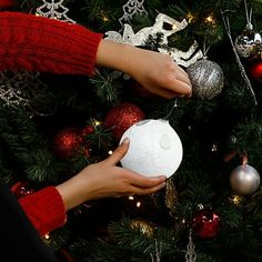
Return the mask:
{"type": "Polygon", "coordinates": [[[234,46],[240,57],[250,58],[258,54],[262,49],[261,34],[252,29],[245,29],[236,37],[234,46]]]}

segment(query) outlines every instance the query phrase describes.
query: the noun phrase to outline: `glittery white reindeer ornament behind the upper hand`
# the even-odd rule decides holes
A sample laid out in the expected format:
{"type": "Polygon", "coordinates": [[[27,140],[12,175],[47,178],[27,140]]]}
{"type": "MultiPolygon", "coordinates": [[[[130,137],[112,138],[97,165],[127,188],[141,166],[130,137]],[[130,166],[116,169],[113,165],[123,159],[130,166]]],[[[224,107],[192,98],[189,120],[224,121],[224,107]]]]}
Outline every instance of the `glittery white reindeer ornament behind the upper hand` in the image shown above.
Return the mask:
{"type": "MultiPolygon", "coordinates": [[[[129,23],[124,23],[123,34],[117,31],[108,31],[105,32],[105,39],[110,39],[121,43],[128,43],[135,47],[143,47],[145,46],[145,42],[150,36],[162,33],[163,38],[161,44],[168,47],[168,38],[173,33],[183,30],[187,26],[188,22],[185,19],[179,22],[167,14],[159,13],[152,27],[143,28],[134,33],[132,27],[129,23]],[[164,28],[165,23],[171,26],[170,30],[164,28]]],[[[183,52],[177,48],[159,48],[158,50],[161,53],[169,53],[178,64],[188,68],[190,64],[194,63],[196,60],[203,57],[202,51],[198,50],[198,43],[194,42],[187,52],[183,52]]]]}

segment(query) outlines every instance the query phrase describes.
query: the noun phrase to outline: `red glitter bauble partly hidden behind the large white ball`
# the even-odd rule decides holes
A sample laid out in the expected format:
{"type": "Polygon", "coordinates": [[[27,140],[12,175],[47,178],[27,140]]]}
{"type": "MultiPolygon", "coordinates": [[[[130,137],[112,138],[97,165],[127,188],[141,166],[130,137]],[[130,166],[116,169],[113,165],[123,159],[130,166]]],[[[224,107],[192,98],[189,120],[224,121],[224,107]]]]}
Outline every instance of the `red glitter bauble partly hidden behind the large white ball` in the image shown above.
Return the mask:
{"type": "Polygon", "coordinates": [[[143,111],[135,104],[121,103],[107,114],[104,125],[112,128],[113,137],[120,140],[122,134],[134,123],[144,119],[143,111]]]}

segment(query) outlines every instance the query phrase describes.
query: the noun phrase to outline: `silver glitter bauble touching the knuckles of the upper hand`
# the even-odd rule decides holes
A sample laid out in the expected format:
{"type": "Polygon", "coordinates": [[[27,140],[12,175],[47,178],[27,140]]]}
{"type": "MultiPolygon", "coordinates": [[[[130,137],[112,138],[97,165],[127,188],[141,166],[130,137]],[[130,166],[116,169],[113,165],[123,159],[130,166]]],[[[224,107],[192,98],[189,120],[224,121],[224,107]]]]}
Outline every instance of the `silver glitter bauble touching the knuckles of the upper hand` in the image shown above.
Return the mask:
{"type": "Polygon", "coordinates": [[[220,66],[208,59],[201,59],[188,67],[193,95],[213,99],[224,87],[224,74],[220,66]]]}

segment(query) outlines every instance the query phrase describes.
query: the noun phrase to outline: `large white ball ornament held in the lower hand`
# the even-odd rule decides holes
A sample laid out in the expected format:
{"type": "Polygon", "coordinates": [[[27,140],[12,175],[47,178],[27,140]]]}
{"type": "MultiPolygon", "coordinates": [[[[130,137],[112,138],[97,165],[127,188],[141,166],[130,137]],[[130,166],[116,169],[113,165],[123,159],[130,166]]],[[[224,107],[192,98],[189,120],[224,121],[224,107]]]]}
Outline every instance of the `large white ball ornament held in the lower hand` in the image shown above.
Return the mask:
{"type": "Polygon", "coordinates": [[[144,177],[170,178],[182,161],[181,140],[168,121],[142,120],[123,133],[120,143],[125,138],[130,139],[129,150],[121,160],[125,169],[144,177]]]}

